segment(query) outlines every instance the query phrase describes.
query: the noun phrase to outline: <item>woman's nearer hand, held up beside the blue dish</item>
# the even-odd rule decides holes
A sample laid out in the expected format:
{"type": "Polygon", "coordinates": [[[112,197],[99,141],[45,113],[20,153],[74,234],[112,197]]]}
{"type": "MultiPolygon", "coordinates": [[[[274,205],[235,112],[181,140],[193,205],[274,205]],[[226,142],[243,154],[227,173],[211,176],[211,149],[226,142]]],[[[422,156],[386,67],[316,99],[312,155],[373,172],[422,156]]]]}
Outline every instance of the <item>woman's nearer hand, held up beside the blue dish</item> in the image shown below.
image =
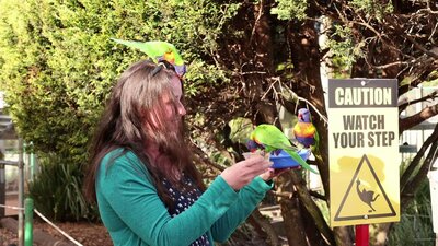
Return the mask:
{"type": "Polygon", "coordinates": [[[255,176],[268,172],[272,163],[261,155],[254,155],[224,169],[220,176],[234,190],[250,184],[255,176]]]}

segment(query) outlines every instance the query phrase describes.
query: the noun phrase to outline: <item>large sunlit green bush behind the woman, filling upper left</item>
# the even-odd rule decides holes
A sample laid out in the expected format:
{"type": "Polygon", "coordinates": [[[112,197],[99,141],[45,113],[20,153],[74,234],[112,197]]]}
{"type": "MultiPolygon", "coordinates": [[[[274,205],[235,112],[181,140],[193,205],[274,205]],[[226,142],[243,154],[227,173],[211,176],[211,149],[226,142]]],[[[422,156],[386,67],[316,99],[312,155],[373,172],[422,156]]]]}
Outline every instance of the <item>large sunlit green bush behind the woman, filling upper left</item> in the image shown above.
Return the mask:
{"type": "MultiPolygon", "coordinates": [[[[77,175],[71,165],[87,162],[87,144],[113,84],[127,66],[146,58],[111,37],[174,44],[188,65],[187,94],[196,95],[208,84],[229,81],[203,57],[216,51],[222,26],[239,7],[211,0],[0,0],[0,90],[8,112],[39,156],[70,162],[46,165],[42,175],[62,168],[77,175]]],[[[50,181],[56,180],[38,180],[34,196],[56,187],[50,181]]],[[[60,202],[73,203],[51,199],[47,203],[57,206],[54,216],[83,216],[60,215],[58,210],[81,209],[59,209],[60,202]]]]}

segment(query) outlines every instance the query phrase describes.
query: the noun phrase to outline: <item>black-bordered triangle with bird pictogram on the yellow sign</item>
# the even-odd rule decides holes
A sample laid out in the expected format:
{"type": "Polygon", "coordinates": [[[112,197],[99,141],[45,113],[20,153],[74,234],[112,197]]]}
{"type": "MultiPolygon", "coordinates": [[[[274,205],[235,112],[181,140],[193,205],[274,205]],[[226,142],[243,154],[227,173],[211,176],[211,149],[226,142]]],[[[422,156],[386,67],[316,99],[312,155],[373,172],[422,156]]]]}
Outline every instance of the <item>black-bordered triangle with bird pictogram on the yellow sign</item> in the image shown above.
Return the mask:
{"type": "Polygon", "coordinates": [[[349,181],[334,221],[396,216],[396,212],[366,154],[349,181]]]}

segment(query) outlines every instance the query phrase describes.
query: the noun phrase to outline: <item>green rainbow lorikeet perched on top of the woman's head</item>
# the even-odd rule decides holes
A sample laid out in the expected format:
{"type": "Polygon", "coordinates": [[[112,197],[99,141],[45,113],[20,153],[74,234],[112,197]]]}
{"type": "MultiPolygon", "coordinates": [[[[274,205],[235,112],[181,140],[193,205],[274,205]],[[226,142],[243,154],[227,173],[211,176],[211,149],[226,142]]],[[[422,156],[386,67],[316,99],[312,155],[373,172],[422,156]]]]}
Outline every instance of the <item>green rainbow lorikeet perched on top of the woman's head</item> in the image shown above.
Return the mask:
{"type": "Polygon", "coordinates": [[[177,49],[174,45],[166,42],[134,42],[134,40],[122,40],[116,38],[111,38],[112,40],[126,45],[131,48],[139,49],[145,52],[150,59],[154,62],[160,62],[162,60],[168,61],[173,65],[175,68],[175,72],[180,78],[184,75],[186,72],[186,66],[184,65],[184,60],[178,54],[177,49]]]}

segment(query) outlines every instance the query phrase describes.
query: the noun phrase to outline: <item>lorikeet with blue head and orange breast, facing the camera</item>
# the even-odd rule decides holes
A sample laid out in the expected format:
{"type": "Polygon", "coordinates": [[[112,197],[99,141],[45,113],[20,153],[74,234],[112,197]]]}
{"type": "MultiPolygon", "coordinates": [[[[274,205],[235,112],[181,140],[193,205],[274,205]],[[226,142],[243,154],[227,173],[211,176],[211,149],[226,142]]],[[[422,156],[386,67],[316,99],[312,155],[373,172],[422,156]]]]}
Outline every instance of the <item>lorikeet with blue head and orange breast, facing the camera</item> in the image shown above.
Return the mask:
{"type": "Polygon", "coordinates": [[[318,149],[319,136],[311,121],[309,109],[300,108],[298,110],[298,122],[293,126],[293,134],[304,148],[318,149]]]}

